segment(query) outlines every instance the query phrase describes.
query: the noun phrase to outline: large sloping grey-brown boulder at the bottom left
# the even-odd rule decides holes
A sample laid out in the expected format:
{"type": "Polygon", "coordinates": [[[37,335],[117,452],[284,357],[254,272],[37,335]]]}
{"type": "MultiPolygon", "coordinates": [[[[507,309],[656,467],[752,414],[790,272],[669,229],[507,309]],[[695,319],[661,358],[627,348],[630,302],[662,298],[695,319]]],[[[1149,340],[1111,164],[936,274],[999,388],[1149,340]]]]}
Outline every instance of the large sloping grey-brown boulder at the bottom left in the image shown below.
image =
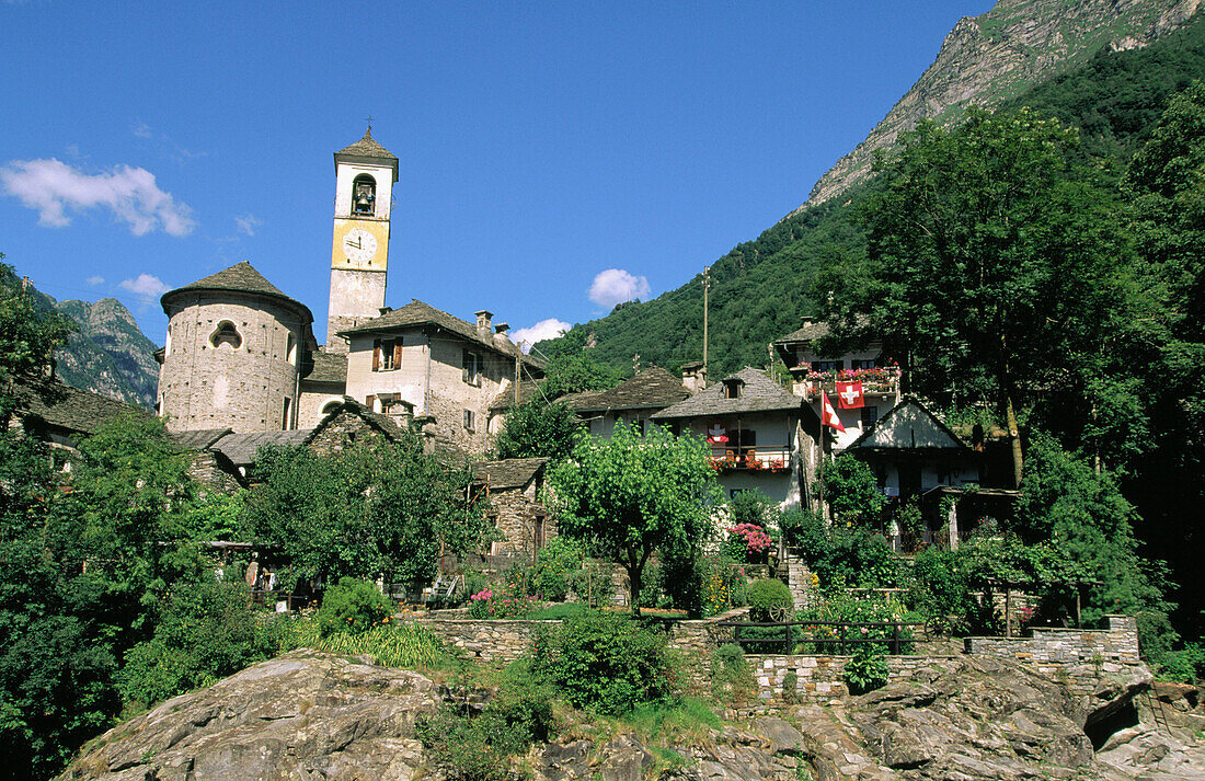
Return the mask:
{"type": "Polygon", "coordinates": [[[299,650],[108,730],[60,779],[408,781],[439,704],[417,673],[299,650]]]}

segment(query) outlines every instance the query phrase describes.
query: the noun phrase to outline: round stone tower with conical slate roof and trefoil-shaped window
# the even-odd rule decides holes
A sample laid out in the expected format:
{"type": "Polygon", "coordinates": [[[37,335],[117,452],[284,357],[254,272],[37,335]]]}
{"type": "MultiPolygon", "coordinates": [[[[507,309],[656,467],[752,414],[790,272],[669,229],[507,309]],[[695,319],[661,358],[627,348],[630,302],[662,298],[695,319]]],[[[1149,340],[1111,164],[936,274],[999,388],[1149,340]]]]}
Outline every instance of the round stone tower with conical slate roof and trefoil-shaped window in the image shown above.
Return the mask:
{"type": "Polygon", "coordinates": [[[164,294],[159,413],[172,430],[296,428],[313,315],[242,262],[164,294]]]}

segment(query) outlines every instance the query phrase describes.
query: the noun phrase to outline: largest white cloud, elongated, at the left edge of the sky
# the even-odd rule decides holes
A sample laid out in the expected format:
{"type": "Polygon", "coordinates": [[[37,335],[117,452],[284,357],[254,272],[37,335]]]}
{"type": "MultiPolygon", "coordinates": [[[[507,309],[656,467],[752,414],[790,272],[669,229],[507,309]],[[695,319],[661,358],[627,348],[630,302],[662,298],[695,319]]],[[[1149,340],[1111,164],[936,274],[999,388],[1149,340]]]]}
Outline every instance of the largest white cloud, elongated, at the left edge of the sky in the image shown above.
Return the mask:
{"type": "Polygon", "coordinates": [[[154,174],[142,168],[118,165],[108,174],[83,174],[54,158],[12,160],[0,169],[0,183],[8,195],[36,209],[39,224],[48,228],[71,224],[69,211],[96,206],[112,210],[135,236],[153,230],[183,236],[196,224],[193,210],[159,189],[154,174]]]}

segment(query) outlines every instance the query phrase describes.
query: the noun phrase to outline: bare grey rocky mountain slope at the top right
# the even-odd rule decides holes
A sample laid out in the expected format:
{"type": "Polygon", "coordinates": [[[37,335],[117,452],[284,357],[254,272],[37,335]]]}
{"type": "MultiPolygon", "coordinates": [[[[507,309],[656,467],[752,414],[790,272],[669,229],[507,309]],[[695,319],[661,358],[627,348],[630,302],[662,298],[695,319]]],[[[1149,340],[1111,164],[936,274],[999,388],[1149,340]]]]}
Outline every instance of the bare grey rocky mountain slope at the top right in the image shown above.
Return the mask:
{"type": "MultiPolygon", "coordinates": [[[[1201,0],[999,0],[963,18],[933,65],[866,140],[837,160],[807,204],[840,195],[870,172],[875,152],[922,119],[957,123],[971,106],[989,107],[1025,86],[1084,60],[1103,46],[1128,49],[1176,30],[1201,0]]],[[[798,210],[797,210],[798,211],[798,210]]]]}

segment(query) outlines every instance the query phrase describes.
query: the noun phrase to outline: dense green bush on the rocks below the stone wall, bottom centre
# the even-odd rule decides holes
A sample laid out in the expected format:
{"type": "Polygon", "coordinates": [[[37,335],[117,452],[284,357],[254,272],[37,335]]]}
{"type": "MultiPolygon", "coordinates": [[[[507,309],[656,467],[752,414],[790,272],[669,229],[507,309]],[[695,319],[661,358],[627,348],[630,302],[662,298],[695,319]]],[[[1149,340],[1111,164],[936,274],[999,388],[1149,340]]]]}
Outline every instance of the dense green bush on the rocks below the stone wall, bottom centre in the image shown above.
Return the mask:
{"type": "Polygon", "coordinates": [[[676,699],[665,642],[630,618],[592,611],[537,635],[534,669],[576,707],[622,715],[676,699]]]}

